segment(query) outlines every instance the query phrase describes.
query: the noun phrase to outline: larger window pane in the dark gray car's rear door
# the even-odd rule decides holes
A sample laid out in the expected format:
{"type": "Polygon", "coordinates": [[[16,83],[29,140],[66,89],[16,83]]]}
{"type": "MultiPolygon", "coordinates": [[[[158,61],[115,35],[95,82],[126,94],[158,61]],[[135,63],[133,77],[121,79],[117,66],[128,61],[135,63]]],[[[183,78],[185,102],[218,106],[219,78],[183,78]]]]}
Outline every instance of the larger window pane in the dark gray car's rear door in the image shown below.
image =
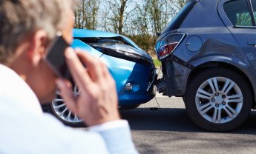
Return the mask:
{"type": "Polygon", "coordinates": [[[252,26],[252,19],[246,0],[229,1],[224,4],[224,10],[229,21],[234,26],[252,26]]]}

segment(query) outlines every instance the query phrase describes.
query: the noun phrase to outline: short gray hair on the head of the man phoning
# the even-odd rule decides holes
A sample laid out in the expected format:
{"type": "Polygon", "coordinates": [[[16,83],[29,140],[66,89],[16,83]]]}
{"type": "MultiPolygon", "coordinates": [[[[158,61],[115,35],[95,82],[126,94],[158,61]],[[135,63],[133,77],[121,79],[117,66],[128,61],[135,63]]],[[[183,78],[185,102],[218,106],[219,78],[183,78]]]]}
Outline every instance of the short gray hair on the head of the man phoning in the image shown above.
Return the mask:
{"type": "Polygon", "coordinates": [[[0,0],[0,63],[7,63],[19,44],[36,30],[49,41],[67,22],[71,0],[0,0]]]}

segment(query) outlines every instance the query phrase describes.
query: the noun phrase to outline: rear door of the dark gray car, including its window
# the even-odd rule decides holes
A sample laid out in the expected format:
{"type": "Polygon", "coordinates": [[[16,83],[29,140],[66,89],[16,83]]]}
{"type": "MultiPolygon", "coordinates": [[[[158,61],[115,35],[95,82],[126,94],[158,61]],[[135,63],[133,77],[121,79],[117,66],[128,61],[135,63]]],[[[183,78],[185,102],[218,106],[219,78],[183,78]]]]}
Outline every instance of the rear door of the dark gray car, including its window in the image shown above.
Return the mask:
{"type": "Polygon", "coordinates": [[[232,0],[222,3],[224,13],[220,13],[220,16],[224,24],[256,70],[256,0],[232,0]]]}

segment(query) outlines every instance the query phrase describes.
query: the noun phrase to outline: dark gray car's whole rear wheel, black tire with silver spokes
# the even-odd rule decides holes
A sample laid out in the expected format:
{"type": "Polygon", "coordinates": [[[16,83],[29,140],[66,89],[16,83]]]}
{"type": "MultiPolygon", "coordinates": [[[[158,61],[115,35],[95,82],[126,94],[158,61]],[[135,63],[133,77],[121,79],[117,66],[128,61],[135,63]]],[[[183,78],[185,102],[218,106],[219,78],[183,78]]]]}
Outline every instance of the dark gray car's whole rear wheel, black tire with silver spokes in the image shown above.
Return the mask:
{"type": "Polygon", "coordinates": [[[190,83],[188,84],[188,88],[185,95],[183,96],[183,100],[186,105],[186,112],[188,113],[188,116],[191,118],[191,120],[194,121],[194,124],[197,124],[197,126],[203,128],[204,130],[217,132],[233,130],[239,127],[240,124],[243,124],[243,122],[246,121],[246,118],[249,116],[249,113],[252,109],[252,93],[245,79],[238,73],[224,68],[210,68],[209,70],[203,70],[203,72],[198,73],[196,76],[194,76],[194,78],[192,78],[190,83]],[[212,90],[211,87],[211,85],[214,84],[214,80],[212,80],[213,82],[207,81],[210,78],[216,78],[215,81],[217,81],[217,87],[219,89],[219,92],[226,91],[226,93],[217,93],[217,90],[215,88],[216,86],[214,86],[216,90],[216,93],[214,93],[214,90],[212,90]],[[223,81],[222,83],[222,80],[224,80],[225,78],[231,80],[230,84],[227,84],[229,83],[229,80],[226,80],[226,82],[223,81]],[[232,81],[234,82],[234,84],[236,84],[233,87],[232,81]],[[213,84],[207,85],[207,83],[213,84]],[[225,88],[225,84],[228,85],[227,88],[225,88]],[[228,90],[229,86],[232,87],[231,90],[228,90]],[[237,87],[239,87],[240,89],[237,87]],[[203,96],[200,95],[202,93],[200,93],[199,88],[205,88],[203,90],[207,90],[206,92],[209,93],[211,93],[212,91],[213,95],[209,97],[207,96],[208,94],[206,95],[211,100],[207,98],[201,98],[203,96]],[[237,91],[240,91],[240,93],[237,94],[237,91]],[[221,99],[219,95],[222,95],[221,98],[223,99],[221,99]],[[238,95],[240,95],[241,97],[238,97],[238,95]],[[234,96],[237,96],[237,98],[230,98],[234,96]],[[228,101],[225,101],[225,98],[228,101]],[[240,102],[235,102],[234,100],[240,100],[240,102]],[[222,103],[220,103],[220,101],[222,101],[222,103]],[[204,104],[206,107],[203,107],[204,104]],[[206,104],[210,105],[207,106],[206,104]],[[223,104],[225,104],[226,106],[223,104]],[[232,111],[232,109],[229,110],[230,107],[232,107],[233,110],[239,110],[237,114],[234,114],[235,116],[233,115],[233,118],[228,114],[235,113],[232,111]],[[226,121],[226,119],[229,119],[229,121],[226,121]]]}

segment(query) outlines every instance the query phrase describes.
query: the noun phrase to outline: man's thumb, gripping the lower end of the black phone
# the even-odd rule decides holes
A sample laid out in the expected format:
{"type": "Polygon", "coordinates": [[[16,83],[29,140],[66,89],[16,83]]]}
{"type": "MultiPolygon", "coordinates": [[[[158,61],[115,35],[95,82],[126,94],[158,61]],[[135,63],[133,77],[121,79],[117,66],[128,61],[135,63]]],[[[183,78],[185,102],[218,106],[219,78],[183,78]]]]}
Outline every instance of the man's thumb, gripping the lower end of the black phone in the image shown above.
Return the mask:
{"type": "Polygon", "coordinates": [[[77,107],[75,98],[73,97],[73,90],[71,89],[72,85],[68,85],[68,83],[61,78],[56,80],[56,84],[59,87],[62,98],[65,100],[65,104],[73,113],[76,113],[77,107]]]}

